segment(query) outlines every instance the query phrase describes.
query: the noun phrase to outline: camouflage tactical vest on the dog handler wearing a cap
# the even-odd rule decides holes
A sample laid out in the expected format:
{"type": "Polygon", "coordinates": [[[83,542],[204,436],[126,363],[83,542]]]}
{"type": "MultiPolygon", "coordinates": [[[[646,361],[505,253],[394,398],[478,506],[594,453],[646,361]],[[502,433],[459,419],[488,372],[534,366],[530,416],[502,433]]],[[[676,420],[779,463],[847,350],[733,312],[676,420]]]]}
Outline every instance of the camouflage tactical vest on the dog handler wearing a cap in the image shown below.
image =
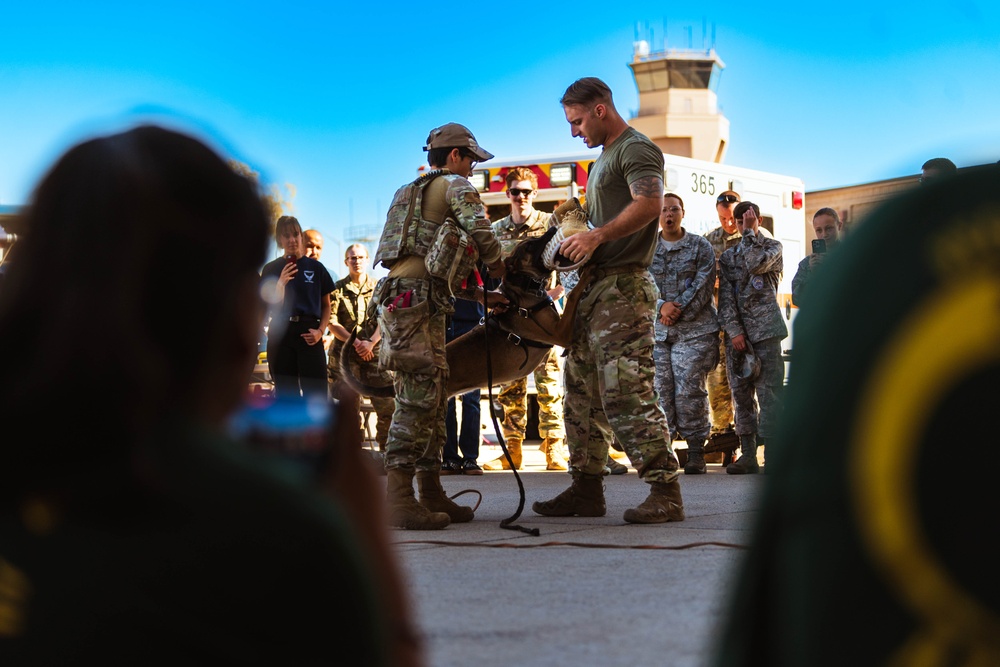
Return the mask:
{"type": "Polygon", "coordinates": [[[440,223],[424,220],[420,210],[421,200],[424,189],[431,181],[449,173],[447,169],[434,169],[396,190],[385,217],[373,266],[381,262],[382,266],[391,269],[401,257],[427,255],[440,223]]]}

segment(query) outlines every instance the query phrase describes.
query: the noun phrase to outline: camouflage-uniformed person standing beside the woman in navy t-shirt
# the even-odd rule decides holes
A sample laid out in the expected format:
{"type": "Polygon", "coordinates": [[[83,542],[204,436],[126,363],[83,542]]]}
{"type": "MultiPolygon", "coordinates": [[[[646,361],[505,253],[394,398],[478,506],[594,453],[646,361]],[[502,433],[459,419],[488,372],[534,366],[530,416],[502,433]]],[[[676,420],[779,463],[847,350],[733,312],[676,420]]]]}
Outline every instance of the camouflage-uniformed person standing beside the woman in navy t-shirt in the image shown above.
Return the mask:
{"type": "MultiPolygon", "coordinates": [[[[340,352],[344,348],[344,343],[364,321],[368,303],[375,291],[375,281],[368,275],[368,250],[363,245],[355,243],[348,247],[344,253],[344,264],[347,265],[347,276],[333,284],[333,292],[330,294],[332,315],[329,329],[333,334],[333,342],[330,345],[327,368],[334,383],[339,382],[342,377],[340,352]]],[[[378,368],[376,346],[380,338],[381,335],[376,330],[371,340],[359,337],[354,341],[354,353],[364,362],[359,369],[362,374],[361,379],[369,384],[384,385],[392,381],[388,373],[378,368]]],[[[375,409],[375,441],[378,443],[379,451],[384,452],[395,401],[378,396],[372,396],[369,400],[375,409]]]]}

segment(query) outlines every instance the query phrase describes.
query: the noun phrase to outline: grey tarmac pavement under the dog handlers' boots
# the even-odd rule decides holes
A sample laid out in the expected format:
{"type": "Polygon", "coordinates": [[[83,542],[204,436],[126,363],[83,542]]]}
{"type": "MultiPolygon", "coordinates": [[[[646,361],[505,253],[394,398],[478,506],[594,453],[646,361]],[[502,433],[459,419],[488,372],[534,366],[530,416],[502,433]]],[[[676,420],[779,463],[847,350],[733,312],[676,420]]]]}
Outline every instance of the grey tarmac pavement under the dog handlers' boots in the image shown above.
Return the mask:
{"type": "MultiPolygon", "coordinates": [[[[541,517],[531,503],[554,497],[570,477],[546,471],[537,445],[524,443],[524,507],[511,522],[537,536],[500,526],[520,501],[510,471],[442,477],[449,496],[482,494],[471,523],[392,531],[427,664],[707,665],[766,476],[709,464],[706,475],[681,475],[685,521],[631,525],[622,513],[648,486],[630,467],[605,477],[606,516],[541,517]]],[[[483,447],[480,463],[499,452],[483,447]]]]}

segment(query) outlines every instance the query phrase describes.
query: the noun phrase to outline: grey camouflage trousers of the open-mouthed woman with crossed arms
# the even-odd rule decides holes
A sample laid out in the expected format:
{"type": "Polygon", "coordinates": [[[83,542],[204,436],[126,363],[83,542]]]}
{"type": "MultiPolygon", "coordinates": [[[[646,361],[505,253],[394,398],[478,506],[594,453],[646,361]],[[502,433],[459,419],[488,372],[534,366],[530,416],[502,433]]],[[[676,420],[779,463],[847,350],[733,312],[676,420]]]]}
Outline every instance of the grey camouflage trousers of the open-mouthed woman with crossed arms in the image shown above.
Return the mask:
{"type": "Polygon", "coordinates": [[[671,341],[675,336],[671,332],[653,347],[660,407],[674,440],[707,440],[711,424],[705,378],[719,362],[719,337],[711,333],[671,341]]]}

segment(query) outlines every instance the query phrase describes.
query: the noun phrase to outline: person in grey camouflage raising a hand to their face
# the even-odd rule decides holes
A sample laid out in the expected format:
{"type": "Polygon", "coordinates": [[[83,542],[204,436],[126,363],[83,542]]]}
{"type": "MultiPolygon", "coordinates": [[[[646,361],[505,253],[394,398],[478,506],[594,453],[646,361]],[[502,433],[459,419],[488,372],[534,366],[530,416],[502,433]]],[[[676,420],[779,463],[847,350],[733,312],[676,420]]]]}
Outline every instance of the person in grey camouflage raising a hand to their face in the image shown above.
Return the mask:
{"type": "Polygon", "coordinates": [[[781,243],[760,227],[756,204],[740,202],[733,213],[743,238],[738,246],[722,253],[719,261],[719,320],[727,334],[726,360],[740,437],[740,458],[726,466],[726,472],[743,475],[759,472],[758,438],[768,440],[775,432],[785,383],[781,341],[788,336],[788,328],[778,306],[781,243]],[[760,360],[756,377],[734,373],[735,364],[748,352],[760,360]]]}

